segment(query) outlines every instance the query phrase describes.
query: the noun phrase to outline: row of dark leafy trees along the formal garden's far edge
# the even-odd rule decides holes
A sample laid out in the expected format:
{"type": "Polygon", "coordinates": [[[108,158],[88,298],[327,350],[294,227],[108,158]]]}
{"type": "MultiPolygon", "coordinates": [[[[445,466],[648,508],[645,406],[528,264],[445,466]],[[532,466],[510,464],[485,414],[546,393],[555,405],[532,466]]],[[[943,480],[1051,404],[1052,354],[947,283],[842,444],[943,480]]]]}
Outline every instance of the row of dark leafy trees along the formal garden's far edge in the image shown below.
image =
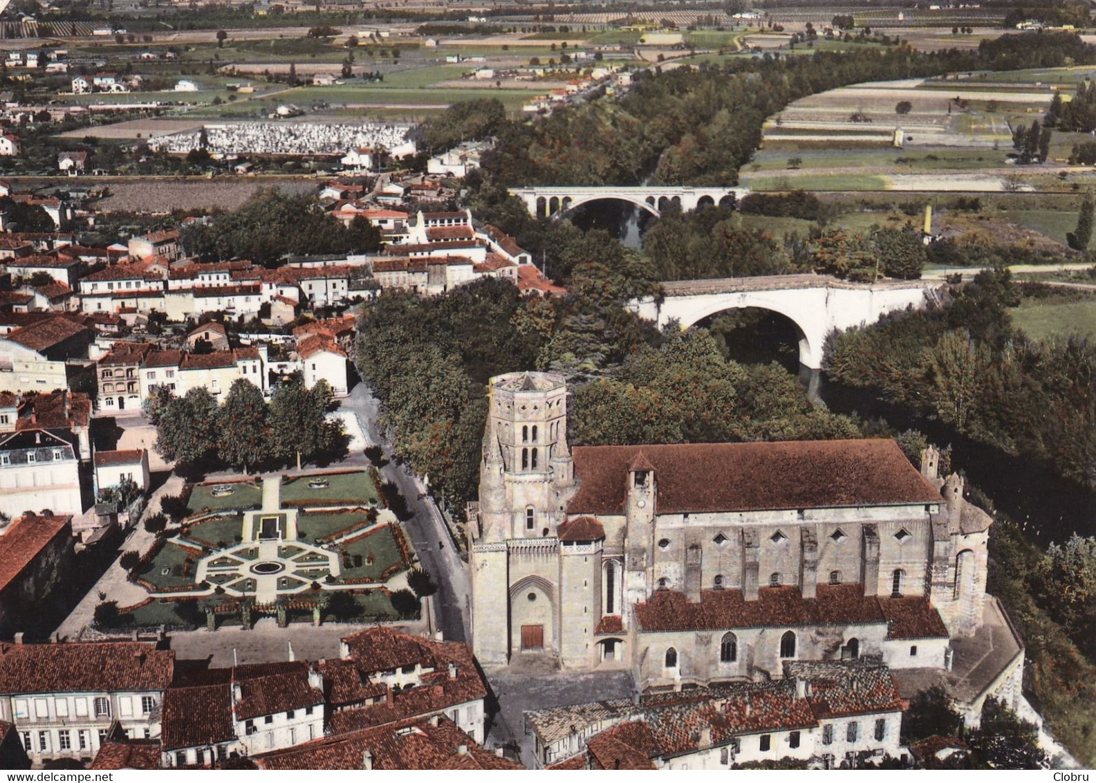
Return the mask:
{"type": "Polygon", "coordinates": [[[146,404],[156,425],[156,450],[187,473],[229,466],[247,473],[260,467],[331,461],[346,453],[342,425],[329,421],[331,387],[311,389],[300,381],[283,384],[270,402],[258,386],[238,378],[224,402],[205,387],[184,396],[159,387],[146,404]]]}

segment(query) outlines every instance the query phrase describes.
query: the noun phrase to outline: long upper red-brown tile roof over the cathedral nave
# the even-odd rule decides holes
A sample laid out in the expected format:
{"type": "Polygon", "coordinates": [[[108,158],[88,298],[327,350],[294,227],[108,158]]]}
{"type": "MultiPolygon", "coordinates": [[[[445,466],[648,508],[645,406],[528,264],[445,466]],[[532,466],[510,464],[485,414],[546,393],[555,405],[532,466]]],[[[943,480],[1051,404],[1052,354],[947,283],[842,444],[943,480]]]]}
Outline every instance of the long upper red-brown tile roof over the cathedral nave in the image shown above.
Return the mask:
{"type": "Polygon", "coordinates": [[[939,503],[891,440],[575,446],[572,514],[623,514],[628,465],[642,452],[658,513],[939,503]]]}

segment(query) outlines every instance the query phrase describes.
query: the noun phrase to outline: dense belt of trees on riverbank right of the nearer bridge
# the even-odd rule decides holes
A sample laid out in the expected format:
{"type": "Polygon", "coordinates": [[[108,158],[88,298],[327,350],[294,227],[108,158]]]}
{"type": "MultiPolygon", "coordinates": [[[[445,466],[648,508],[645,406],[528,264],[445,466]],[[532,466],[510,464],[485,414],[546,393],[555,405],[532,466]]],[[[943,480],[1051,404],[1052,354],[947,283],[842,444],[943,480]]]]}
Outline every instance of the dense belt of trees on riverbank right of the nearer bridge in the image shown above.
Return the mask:
{"type": "Polygon", "coordinates": [[[834,336],[826,372],[1096,486],[1096,345],[1034,341],[1013,328],[1008,307],[1020,293],[1007,270],[984,271],[951,296],[834,336]]]}

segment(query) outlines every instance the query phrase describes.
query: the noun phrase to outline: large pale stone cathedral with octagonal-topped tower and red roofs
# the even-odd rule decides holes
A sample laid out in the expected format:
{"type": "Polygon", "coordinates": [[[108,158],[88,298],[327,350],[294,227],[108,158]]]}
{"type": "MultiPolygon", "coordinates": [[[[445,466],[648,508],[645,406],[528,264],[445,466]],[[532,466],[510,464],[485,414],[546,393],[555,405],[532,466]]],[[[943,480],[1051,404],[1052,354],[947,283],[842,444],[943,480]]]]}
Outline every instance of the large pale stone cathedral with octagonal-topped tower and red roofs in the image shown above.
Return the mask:
{"type": "Polygon", "coordinates": [[[794,660],[944,669],[983,617],[991,519],[890,440],[575,446],[553,373],[490,381],[472,647],[641,688],[794,660]]]}

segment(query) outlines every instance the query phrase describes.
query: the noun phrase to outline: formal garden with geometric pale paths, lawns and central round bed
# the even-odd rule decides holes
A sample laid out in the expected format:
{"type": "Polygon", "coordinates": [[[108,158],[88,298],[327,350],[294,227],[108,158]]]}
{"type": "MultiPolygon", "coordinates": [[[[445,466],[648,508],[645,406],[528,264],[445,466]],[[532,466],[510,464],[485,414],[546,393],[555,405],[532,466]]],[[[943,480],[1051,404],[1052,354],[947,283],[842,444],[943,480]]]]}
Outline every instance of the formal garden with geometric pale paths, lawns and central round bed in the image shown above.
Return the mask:
{"type": "Polygon", "coordinates": [[[152,547],[122,557],[148,598],[100,604],[96,625],[418,617],[408,586],[414,554],[389,508],[391,489],[379,485],[375,472],[344,470],[189,486],[147,523],[157,533],[152,547]]]}

